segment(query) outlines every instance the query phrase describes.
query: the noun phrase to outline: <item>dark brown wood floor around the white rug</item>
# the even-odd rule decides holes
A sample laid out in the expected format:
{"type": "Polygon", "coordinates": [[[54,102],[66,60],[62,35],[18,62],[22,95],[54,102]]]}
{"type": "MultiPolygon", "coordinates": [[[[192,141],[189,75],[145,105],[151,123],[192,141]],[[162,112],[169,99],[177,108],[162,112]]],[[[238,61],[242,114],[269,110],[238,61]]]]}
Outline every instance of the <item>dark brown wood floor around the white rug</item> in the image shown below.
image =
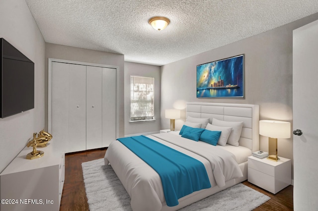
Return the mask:
{"type": "MultiPolygon", "coordinates": [[[[106,149],[99,149],[65,156],[65,182],[60,211],[88,211],[81,163],[104,158],[105,152],[106,149]]],[[[293,211],[293,186],[290,185],[274,195],[247,181],[243,184],[271,198],[255,211],[293,211]]]]}

